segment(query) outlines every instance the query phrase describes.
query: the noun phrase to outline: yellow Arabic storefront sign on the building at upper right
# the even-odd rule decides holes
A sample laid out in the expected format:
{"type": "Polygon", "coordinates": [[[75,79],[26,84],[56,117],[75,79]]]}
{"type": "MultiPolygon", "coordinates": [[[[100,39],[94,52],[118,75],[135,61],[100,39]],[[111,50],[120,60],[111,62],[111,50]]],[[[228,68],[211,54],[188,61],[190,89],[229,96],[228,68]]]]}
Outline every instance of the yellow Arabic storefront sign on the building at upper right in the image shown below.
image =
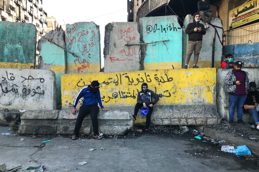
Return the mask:
{"type": "Polygon", "coordinates": [[[253,0],[229,11],[228,28],[235,28],[259,18],[259,1],[253,0]]]}

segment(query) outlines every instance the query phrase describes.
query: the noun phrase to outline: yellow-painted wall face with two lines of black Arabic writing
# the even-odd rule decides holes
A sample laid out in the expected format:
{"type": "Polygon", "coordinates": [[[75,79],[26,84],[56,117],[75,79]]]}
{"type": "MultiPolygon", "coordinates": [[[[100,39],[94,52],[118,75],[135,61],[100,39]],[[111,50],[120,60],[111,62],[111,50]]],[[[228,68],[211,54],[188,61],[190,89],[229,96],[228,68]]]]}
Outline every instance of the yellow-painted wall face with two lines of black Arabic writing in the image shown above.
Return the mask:
{"type": "Polygon", "coordinates": [[[77,93],[90,81],[98,80],[104,106],[132,106],[137,102],[141,84],[156,91],[158,104],[213,103],[216,69],[146,70],[97,72],[61,75],[62,107],[72,107],[77,93]]]}

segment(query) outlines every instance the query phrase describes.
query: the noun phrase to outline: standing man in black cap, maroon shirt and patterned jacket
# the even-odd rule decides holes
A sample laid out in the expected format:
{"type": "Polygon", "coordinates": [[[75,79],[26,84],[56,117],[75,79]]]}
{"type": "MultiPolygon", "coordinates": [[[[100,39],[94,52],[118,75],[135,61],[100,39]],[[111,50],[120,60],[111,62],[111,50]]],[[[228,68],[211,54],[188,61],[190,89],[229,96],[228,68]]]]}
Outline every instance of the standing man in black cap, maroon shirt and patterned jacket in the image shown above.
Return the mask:
{"type": "Polygon", "coordinates": [[[249,91],[249,79],[245,71],[241,70],[242,62],[236,61],[234,69],[229,71],[225,77],[225,84],[228,89],[228,116],[229,124],[235,125],[234,113],[237,107],[238,123],[244,125],[243,122],[243,106],[249,91]]]}

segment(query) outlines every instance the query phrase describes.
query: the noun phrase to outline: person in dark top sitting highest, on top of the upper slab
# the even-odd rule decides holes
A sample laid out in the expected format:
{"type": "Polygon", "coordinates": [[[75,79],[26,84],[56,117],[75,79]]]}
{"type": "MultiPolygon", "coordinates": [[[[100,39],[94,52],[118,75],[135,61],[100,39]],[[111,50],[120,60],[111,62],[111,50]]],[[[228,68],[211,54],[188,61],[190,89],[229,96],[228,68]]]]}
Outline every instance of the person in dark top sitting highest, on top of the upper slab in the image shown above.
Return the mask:
{"type": "Polygon", "coordinates": [[[210,1],[200,0],[198,2],[198,13],[202,16],[202,20],[206,24],[204,26],[205,29],[210,27],[209,23],[212,19],[212,13],[209,9],[210,9],[210,1]],[[208,17],[208,20],[206,19],[206,16],[208,17]]]}

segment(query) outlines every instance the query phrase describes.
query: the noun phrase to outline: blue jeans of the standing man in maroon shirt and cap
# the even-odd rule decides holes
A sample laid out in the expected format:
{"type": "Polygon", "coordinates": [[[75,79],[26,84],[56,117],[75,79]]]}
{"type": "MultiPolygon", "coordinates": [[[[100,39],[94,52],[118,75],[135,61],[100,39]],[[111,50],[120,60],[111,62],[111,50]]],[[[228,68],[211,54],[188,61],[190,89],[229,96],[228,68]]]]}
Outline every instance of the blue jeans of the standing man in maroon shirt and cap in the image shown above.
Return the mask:
{"type": "Polygon", "coordinates": [[[228,95],[228,102],[229,102],[228,117],[229,117],[229,120],[232,119],[234,121],[234,113],[235,113],[236,107],[237,107],[238,120],[242,119],[242,117],[243,117],[243,106],[244,106],[244,103],[245,103],[246,99],[247,99],[246,94],[228,95]]]}

